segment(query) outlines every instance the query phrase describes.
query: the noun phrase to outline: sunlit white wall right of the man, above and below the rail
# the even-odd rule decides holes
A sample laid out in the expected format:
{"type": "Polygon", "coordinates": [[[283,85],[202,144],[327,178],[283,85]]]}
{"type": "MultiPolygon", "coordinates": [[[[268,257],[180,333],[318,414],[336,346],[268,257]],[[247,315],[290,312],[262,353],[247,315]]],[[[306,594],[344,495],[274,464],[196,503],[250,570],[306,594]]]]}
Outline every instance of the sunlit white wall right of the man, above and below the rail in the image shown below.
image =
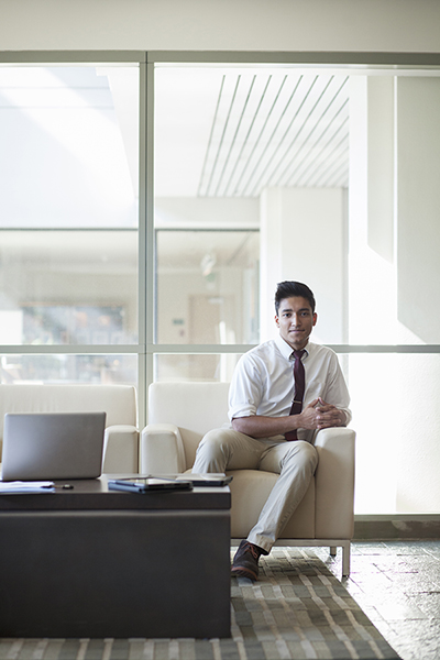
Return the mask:
{"type": "MultiPolygon", "coordinates": [[[[389,82],[351,80],[350,342],[438,343],[440,80],[389,82]]],[[[356,513],[440,512],[439,362],[350,356],[356,513]]]]}

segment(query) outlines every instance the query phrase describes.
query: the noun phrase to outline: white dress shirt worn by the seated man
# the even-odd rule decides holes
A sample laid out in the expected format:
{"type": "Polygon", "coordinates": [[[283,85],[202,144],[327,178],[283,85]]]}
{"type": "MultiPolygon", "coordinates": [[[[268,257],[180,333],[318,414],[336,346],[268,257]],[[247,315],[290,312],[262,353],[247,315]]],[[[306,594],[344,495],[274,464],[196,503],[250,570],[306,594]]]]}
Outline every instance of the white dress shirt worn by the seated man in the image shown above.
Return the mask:
{"type": "MultiPolygon", "coordinates": [[[[321,397],[345,413],[351,420],[350,395],[334,351],[308,342],[302,355],[306,391],[302,407],[321,397]]],[[[229,419],[262,415],[289,415],[295,391],[292,346],[282,337],[266,341],[242,355],[229,391],[229,419]]],[[[314,431],[300,429],[300,440],[311,440],[314,431]]]]}

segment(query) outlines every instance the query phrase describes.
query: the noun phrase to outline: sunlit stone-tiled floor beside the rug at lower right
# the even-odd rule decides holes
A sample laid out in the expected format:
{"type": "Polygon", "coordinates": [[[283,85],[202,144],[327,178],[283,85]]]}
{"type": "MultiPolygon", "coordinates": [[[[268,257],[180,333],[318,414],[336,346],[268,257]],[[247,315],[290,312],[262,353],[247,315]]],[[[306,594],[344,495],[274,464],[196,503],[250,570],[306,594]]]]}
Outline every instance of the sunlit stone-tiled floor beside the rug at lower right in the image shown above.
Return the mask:
{"type": "MultiPolygon", "coordinates": [[[[339,552],[317,554],[340,578],[339,552]]],[[[440,660],[440,540],[353,542],[343,582],[403,660],[440,660]]]]}

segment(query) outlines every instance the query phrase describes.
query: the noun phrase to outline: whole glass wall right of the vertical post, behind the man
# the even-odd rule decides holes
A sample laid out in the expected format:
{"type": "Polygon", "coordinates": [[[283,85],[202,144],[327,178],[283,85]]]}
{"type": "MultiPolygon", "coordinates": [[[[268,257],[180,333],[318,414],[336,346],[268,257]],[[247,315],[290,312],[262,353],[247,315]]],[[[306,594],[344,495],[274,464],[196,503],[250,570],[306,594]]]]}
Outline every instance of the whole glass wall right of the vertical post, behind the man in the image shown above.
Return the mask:
{"type": "MultiPolygon", "coordinates": [[[[317,342],[440,344],[439,72],[370,74],[156,68],[158,342],[274,337],[276,283],[299,279],[317,297],[317,342]],[[257,274],[235,272],[232,302],[219,232],[250,229],[257,274]]],[[[438,514],[440,356],[380,351],[339,355],[358,433],[355,510],[438,514]]],[[[158,355],[155,377],[230,380],[235,361],[158,355]]]]}

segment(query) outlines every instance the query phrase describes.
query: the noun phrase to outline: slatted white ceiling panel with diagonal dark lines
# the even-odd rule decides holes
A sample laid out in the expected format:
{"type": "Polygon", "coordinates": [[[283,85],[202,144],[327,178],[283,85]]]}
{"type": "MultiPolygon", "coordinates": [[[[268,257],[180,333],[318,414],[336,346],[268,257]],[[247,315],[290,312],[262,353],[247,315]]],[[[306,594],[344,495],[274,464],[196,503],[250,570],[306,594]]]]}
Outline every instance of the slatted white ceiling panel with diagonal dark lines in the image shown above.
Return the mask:
{"type": "Polygon", "coordinates": [[[345,76],[223,75],[198,195],[348,185],[345,76]]]}

